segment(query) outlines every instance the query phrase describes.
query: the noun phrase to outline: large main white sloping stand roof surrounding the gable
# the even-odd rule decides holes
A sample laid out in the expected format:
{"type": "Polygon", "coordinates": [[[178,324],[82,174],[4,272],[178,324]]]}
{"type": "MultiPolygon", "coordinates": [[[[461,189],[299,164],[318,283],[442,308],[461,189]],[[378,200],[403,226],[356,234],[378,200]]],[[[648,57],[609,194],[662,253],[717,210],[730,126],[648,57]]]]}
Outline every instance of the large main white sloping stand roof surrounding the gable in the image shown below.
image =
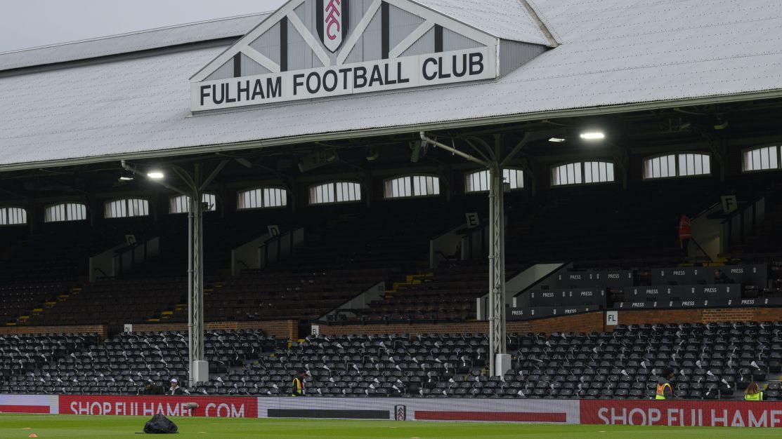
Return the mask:
{"type": "Polygon", "coordinates": [[[532,3],[561,45],[482,83],[190,116],[224,47],[0,77],[0,170],[782,96],[777,0],[532,3]]]}

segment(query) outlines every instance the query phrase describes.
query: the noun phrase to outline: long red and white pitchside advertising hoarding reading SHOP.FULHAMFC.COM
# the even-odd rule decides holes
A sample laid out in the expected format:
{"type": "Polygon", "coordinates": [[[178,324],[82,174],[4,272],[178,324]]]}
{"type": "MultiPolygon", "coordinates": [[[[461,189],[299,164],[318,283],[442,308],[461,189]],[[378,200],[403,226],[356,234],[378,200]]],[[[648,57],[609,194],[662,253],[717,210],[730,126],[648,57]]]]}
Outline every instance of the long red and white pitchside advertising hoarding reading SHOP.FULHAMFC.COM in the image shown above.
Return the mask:
{"type": "Polygon", "coordinates": [[[782,402],[472,398],[220,398],[0,395],[0,412],[93,416],[207,416],[782,427],[782,402]],[[186,403],[196,402],[189,410],[186,403]]]}

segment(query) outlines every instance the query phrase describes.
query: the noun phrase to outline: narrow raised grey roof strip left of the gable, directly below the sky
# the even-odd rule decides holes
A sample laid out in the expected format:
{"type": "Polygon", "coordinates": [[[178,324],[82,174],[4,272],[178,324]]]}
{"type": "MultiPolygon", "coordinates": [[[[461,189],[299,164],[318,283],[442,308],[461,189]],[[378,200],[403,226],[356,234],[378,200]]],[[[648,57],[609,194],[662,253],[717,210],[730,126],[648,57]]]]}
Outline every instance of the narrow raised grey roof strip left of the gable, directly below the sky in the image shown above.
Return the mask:
{"type": "Polygon", "coordinates": [[[266,16],[268,16],[267,13],[238,16],[0,53],[0,70],[119,55],[198,41],[241,37],[261,20],[264,20],[266,16]]]}

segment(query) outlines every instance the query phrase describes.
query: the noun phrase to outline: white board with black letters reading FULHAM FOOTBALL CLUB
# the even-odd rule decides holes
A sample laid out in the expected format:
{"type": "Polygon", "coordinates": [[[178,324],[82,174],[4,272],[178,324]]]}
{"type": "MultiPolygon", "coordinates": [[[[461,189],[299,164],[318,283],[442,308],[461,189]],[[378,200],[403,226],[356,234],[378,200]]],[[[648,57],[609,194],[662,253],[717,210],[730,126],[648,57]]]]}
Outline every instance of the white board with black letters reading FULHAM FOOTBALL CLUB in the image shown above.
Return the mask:
{"type": "Polygon", "coordinates": [[[497,77],[497,46],[190,84],[192,111],[355,95],[497,77]]]}

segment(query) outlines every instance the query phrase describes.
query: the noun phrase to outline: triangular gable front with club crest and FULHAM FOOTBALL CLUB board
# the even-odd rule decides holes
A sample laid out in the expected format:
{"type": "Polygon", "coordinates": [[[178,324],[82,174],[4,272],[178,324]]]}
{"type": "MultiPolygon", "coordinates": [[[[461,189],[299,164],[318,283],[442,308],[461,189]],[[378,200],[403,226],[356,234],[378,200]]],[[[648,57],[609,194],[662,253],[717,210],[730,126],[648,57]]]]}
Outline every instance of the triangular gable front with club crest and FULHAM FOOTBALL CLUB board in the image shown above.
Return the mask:
{"type": "Polygon", "coordinates": [[[499,77],[504,43],[497,37],[408,0],[353,2],[288,0],[190,78],[190,108],[199,112],[499,77]]]}

